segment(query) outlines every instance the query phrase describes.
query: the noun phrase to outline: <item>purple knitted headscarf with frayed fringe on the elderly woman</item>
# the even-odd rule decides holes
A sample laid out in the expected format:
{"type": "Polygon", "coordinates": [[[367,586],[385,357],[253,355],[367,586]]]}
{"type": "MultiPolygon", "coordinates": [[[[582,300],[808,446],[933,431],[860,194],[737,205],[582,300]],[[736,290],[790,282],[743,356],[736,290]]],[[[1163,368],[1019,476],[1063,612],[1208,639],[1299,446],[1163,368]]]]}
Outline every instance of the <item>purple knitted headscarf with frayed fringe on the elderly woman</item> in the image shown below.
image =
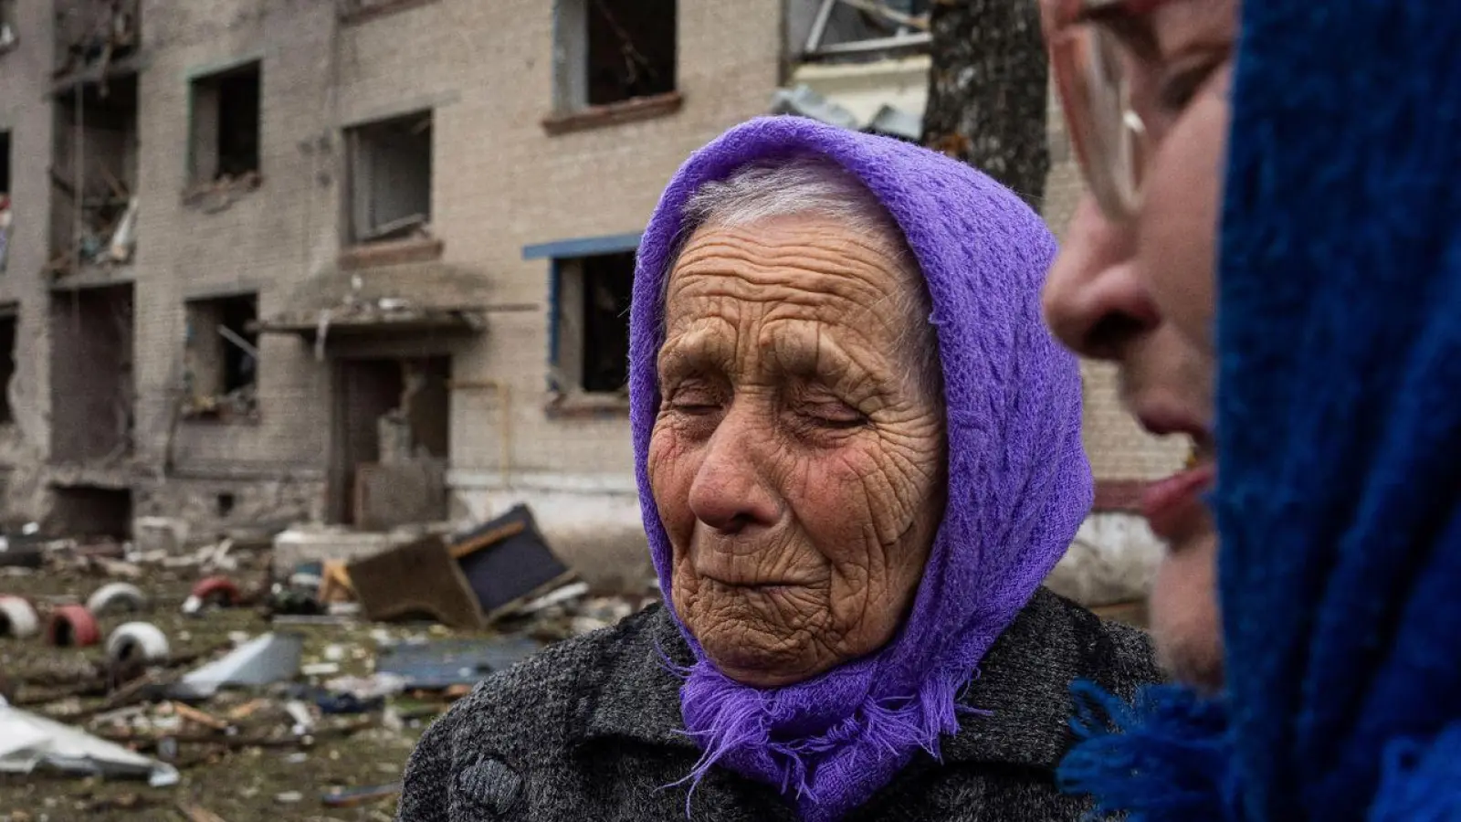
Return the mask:
{"type": "MultiPolygon", "coordinates": [[[[1055,566],[1091,503],[1075,360],[1045,329],[1039,290],[1055,240],[1017,196],[964,164],[799,117],[736,126],[675,174],[640,244],[630,319],[630,423],[650,554],[671,595],[671,544],[646,455],[659,410],[663,279],[685,202],[749,162],[820,155],[856,176],[901,227],[928,282],[944,370],[948,503],[897,636],[798,685],[739,685],[706,658],[681,689],[712,765],[768,783],[804,819],[836,819],[919,750],[958,730],[955,696],[1055,566]]],[[[678,619],[678,617],[676,617],[678,619]]]]}

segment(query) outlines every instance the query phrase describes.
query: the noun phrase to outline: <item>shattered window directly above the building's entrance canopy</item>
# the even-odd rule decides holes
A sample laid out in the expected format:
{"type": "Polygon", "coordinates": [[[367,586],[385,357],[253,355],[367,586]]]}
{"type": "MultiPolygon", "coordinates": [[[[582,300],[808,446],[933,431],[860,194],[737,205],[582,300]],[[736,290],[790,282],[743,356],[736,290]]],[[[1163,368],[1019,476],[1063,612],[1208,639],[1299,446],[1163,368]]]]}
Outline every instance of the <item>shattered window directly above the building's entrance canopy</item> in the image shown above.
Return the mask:
{"type": "Polygon", "coordinates": [[[431,224],[431,113],[348,132],[351,241],[425,235],[431,224]]]}

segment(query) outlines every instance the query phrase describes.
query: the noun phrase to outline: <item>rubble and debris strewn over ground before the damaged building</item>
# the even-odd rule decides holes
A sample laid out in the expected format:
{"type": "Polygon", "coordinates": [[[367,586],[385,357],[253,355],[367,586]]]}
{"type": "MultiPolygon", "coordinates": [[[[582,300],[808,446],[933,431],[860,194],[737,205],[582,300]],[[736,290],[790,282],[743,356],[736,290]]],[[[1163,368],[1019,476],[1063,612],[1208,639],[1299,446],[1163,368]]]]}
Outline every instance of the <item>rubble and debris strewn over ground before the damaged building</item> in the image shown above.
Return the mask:
{"type": "Polygon", "coordinates": [[[526,508],[288,573],[270,554],[34,527],[0,540],[0,819],[240,822],[311,803],[389,818],[406,755],[454,699],[659,598],[596,595],[526,508]],[[226,800],[207,787],[241,778],[226,800]]]}

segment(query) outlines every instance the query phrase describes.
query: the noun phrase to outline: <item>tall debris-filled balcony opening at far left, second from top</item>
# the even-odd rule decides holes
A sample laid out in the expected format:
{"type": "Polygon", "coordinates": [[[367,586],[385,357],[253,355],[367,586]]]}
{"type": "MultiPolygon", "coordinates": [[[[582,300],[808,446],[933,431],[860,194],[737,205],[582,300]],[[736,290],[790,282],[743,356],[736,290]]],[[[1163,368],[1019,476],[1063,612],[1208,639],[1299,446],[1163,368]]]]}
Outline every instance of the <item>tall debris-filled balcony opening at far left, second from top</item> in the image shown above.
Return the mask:
{"type": "Polygon", "coordinates": [[[131,262],[137,240],[137,76],[56,98],[51,246],[47,271],[131,262]]]}

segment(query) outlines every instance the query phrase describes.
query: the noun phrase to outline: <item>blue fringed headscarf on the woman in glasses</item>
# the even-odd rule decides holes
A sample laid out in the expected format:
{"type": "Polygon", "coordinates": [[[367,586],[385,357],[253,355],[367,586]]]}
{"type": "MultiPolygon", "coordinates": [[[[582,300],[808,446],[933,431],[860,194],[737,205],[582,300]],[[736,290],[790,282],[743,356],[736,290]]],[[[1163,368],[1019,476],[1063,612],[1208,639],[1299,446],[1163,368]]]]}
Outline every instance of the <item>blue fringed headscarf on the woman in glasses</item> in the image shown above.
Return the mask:
{"type": "Polygon", "coordinates": [[[1132,822],[1461,819],[1461,4],[1243,6],[1211,500],[1229,685],[1087,693],[1062,780],[1132,822]]]}

